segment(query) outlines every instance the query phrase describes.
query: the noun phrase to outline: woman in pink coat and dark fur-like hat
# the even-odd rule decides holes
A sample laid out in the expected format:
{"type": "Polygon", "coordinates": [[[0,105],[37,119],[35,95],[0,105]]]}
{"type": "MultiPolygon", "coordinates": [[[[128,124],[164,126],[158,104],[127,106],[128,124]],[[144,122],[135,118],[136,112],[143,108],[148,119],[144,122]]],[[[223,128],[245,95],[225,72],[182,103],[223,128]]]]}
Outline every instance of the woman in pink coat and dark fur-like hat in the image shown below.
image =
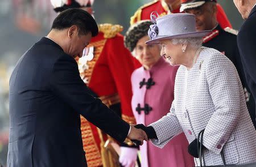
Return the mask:
{"type": "MultiPolygon", "coordinates": [[[[148,28],[152,22],[143,20],[132,25],[125,35],[125,45],[141,62],[131,75],[133,97],[131,105],[137,124],[150,125],[166,115],[174,99],[174,81],[178,66],[170,66],[160,57],[159,45],[146,45],[148,28]]],[[[151,142],[141,147],[142,167],[194,166],[192,156],[187,152],[188,142],[184,133],[175,137],[163,149],[151,142]]]]}

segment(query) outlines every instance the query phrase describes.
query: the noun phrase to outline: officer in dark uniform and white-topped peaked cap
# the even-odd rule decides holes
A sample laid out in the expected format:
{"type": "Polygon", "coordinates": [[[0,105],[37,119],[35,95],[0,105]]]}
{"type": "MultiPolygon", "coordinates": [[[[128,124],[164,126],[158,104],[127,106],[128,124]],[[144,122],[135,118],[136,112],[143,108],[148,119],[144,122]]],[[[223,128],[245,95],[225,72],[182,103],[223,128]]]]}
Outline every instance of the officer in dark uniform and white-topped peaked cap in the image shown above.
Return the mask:
{"type": "Polygon", "coordinates": [[[255,105],[253,96],[250,96],[245,80],[241,57],[237,46],[237,31],[231,28],[222,29],[216,18],[216,0],[186,0],[181,9],[186,13],[196,15],[197,31],[212,29],[212,32],[203,38],[203,46],[214,48],[226,55],[236,66],[240,76],[251,119],[255,127],[255,105]]]}

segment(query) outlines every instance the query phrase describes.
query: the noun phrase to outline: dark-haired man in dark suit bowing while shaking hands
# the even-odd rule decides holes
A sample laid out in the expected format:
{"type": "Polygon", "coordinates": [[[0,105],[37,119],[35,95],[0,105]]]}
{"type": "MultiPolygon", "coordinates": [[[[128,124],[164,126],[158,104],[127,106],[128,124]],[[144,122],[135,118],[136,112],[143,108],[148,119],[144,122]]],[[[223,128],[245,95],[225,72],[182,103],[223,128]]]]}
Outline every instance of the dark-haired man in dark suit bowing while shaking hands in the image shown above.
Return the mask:
{"type": "Polygon", "coordinates": [[[69,9],[19,59],[10,78],[7,166],[86,166],[80,114],[119,142],[147,140],[144,131],[90,96],[80,78],[74,58],[97,33],[88,12],[69,9]]]}

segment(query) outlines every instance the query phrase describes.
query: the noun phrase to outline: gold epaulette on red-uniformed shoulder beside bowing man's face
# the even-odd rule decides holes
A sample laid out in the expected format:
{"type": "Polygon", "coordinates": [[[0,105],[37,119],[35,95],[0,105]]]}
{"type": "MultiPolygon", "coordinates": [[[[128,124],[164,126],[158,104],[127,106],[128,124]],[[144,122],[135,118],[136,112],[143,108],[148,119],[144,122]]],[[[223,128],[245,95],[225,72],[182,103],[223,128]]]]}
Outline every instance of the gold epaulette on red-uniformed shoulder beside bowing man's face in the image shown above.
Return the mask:
{"type": "Polygon", "coordinates": [[[123,26],[119,24],[100,24],[98,25],[98,31],[104,33],[104,38],[113,38],[117,33],[123,31],[123,26]]]}

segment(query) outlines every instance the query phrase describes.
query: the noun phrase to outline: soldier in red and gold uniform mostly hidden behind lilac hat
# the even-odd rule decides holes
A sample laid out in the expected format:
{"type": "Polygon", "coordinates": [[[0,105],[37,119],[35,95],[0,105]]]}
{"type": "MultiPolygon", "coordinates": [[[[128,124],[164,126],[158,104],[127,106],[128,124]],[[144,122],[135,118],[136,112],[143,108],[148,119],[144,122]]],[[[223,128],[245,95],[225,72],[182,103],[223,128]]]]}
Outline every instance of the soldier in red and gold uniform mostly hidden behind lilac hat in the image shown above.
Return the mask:
{"type": "MultiPolygon", "coordinates": [[[[183,12],[181,3],[185,0],[155,0],[146,5],[138,8],[135,14],[131,17],[130,24],[134,24],[140,20],[150,19],[150,14],[152,11],[158,12],[159,16],[167,15],[171,13],[183,12]]],[[[217,20],[222,28],[230,27],[230,24],[223,8],[217,3],[217,20]]],[[[134,62],[135,67],[141,67],[141,63],[138,61],[134,62]]]]}

